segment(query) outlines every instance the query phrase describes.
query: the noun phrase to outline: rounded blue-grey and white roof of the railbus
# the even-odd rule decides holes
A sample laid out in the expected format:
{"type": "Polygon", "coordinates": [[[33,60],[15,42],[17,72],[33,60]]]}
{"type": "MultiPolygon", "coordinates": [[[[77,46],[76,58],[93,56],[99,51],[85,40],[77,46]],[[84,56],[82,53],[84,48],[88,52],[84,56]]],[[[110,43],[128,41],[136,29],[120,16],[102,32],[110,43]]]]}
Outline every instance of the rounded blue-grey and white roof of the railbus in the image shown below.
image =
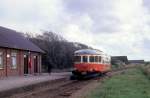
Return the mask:
{"type": "Polygon", "coordinates": [[[75,55],[100,55],[102,51],[96,49],[82,49],[75,51],[75,55]]]}

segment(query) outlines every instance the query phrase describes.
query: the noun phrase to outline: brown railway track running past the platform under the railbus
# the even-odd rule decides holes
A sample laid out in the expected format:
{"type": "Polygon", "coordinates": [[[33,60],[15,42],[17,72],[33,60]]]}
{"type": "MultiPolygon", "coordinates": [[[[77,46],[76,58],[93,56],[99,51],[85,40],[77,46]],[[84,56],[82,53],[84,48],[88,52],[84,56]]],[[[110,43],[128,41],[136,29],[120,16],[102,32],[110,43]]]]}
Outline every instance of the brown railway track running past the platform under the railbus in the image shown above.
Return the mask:
{"type": "Polygon", "coordinates": [[[89,80],[77,81],[77,80],[63,79],[61,81],[57,81],[56,83],[49,84],[46,87],[40,87],[31,92],[16,94],[8,98],[69,98],[73,93],[82,89],[89,83],[93,81],[101,81],[106,77],[111,77],[115,74],[119,74],[129,68],[134,67],[112,70],[103,77],[96,77],[94,79],[89,80]]]}

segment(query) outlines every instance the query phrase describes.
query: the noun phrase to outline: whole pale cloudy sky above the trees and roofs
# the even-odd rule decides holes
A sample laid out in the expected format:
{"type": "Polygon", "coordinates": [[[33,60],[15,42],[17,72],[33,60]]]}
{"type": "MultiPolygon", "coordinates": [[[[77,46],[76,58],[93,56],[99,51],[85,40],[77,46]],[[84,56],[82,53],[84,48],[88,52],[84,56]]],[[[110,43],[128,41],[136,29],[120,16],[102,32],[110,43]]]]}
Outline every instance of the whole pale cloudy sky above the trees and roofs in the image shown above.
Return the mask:
{"type": "Polygon", "coordinates": [[[150,0],[1,0],[0,26],[150,61],[150,0]]]}

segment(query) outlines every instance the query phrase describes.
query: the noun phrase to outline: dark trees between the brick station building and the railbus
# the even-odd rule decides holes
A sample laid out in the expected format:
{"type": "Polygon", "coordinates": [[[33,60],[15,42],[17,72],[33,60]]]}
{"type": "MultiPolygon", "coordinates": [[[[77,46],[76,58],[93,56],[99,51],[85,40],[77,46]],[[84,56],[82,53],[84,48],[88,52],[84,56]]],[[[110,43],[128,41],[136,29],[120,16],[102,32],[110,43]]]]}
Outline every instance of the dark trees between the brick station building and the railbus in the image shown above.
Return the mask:
{"type": "MultiPolygon", "coordinates": [[[[74,52],[79,49],[89,48],[87,45],[68,42],[62,36],[45,31],[42,35],[31,36],[28,39],[45,51],[42,56],[42,65],[48,68],[71,68],[73,67],[74,52]]],[[[91,47],[90,47],[91,48],[91,47]]]]}

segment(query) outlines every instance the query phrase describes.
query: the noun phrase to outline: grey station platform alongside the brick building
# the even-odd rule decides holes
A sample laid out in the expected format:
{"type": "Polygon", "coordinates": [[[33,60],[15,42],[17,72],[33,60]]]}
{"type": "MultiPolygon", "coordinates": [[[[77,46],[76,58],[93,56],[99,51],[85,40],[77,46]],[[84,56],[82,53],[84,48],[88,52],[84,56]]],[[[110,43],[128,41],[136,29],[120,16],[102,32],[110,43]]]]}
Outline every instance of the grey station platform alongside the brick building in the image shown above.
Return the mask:
{"type": "Polygon", "coordinates": [[[41,85],[52,80],[69,78],[70,74],[70,72],[51,73],[50,75],[48,73],[42,73],[36,76],[27,75],[0,79],[0,98],[9,96],[10,93],[18,93],[20,90],[32,89],[34,86],[38,86],[38,84],[41,85]]]}

